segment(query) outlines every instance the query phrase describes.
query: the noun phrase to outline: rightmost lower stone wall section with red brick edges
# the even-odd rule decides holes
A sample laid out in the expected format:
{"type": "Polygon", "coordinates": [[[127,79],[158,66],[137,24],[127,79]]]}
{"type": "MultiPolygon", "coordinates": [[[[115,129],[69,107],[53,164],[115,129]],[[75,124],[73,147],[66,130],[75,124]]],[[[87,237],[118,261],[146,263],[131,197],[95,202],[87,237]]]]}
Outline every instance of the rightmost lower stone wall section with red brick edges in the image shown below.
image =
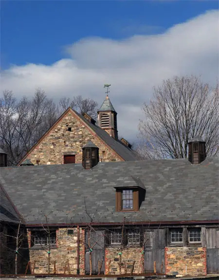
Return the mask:
{"type": "Polygon", "coordinates": [[[206,248],[165,248],[165,273],[179,275],[206,275],[206,248]]]}

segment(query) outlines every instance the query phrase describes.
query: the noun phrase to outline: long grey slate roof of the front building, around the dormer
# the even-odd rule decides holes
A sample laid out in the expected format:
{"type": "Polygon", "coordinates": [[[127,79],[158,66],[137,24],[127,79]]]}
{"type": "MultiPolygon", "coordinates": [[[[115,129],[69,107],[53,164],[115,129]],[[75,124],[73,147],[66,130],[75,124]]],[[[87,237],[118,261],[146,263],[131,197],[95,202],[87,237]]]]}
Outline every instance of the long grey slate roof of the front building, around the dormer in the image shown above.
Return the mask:
{"type": "Polygon", "coordinates": [[[2,167],[1,184],[27,224],[219,220],[219,160],[187,159],[2,167]],[[115,188],[146,189],[139,211],[116,212],[115,188]],[[86,206],[86,207],[85,207],[86,206]],[[87,215],[86,213],[89,213],[87,215]],[[41,212],[40,212],[41,211],[41,212]]]}

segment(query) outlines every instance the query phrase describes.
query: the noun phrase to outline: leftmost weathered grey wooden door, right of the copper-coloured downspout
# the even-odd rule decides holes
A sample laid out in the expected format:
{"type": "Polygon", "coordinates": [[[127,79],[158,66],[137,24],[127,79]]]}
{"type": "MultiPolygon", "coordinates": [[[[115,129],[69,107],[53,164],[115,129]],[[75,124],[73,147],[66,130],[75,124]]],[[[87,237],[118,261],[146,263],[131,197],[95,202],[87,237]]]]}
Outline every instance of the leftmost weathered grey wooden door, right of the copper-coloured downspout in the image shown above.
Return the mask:
{"type": "Polygon", "coordinates": [[[90,254],[92,274],[98,274],[98,261],[102,261],[101,274],[105,270],[105,248],[104,248],[104,230],[95,230],[90,233],[86,232],[86,255],[85,255],[85,273],[90,274],[90,254]],[[90,240],[90,248],[89,248],[90,240]]]}

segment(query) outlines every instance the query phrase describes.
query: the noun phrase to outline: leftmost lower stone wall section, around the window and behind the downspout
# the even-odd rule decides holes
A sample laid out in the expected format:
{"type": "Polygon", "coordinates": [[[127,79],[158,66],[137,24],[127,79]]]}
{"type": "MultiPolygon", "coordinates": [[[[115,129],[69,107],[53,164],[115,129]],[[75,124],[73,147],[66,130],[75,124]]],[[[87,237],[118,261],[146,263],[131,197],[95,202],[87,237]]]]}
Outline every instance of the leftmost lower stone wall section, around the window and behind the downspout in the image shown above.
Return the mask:
{"type": "MultiPolygon", "coordinates": [[[[29,231],[29,252],[32,266],[35,262],[35,273],[48,273],[48,253],[46,247],[34,245],[30,247],[29,231]]],[[[80,229],[80,274],[84,274],[84,231],[80,229]]],[[[77,228],[59,228],[56,230],[56,247],[50,253],[50,273],[64,273],[66,261],[69,261],[71,274],[77,273],[77,228]],[[68,230],[73,229],[73,234],[68,235],[68,230]]],[[[66,269],[68,274],[68,269],[66,269]]]]}

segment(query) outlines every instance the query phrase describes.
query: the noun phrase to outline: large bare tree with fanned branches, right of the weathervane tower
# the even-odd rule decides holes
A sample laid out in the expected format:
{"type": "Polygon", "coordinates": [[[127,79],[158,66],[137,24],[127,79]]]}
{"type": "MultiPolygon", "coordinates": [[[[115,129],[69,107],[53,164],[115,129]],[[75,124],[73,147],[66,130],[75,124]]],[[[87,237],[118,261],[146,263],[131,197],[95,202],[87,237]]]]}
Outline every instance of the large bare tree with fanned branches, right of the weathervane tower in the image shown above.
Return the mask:
{"type": "Polygon", "coordinates": [[[200,78],[174,77],[154,88],[154,98],[143,105],[138,152],[146,158],[187,157],[194,136],[206,142],[206,154],[219,153],[219,86],[212,89],[200,78]]]}

